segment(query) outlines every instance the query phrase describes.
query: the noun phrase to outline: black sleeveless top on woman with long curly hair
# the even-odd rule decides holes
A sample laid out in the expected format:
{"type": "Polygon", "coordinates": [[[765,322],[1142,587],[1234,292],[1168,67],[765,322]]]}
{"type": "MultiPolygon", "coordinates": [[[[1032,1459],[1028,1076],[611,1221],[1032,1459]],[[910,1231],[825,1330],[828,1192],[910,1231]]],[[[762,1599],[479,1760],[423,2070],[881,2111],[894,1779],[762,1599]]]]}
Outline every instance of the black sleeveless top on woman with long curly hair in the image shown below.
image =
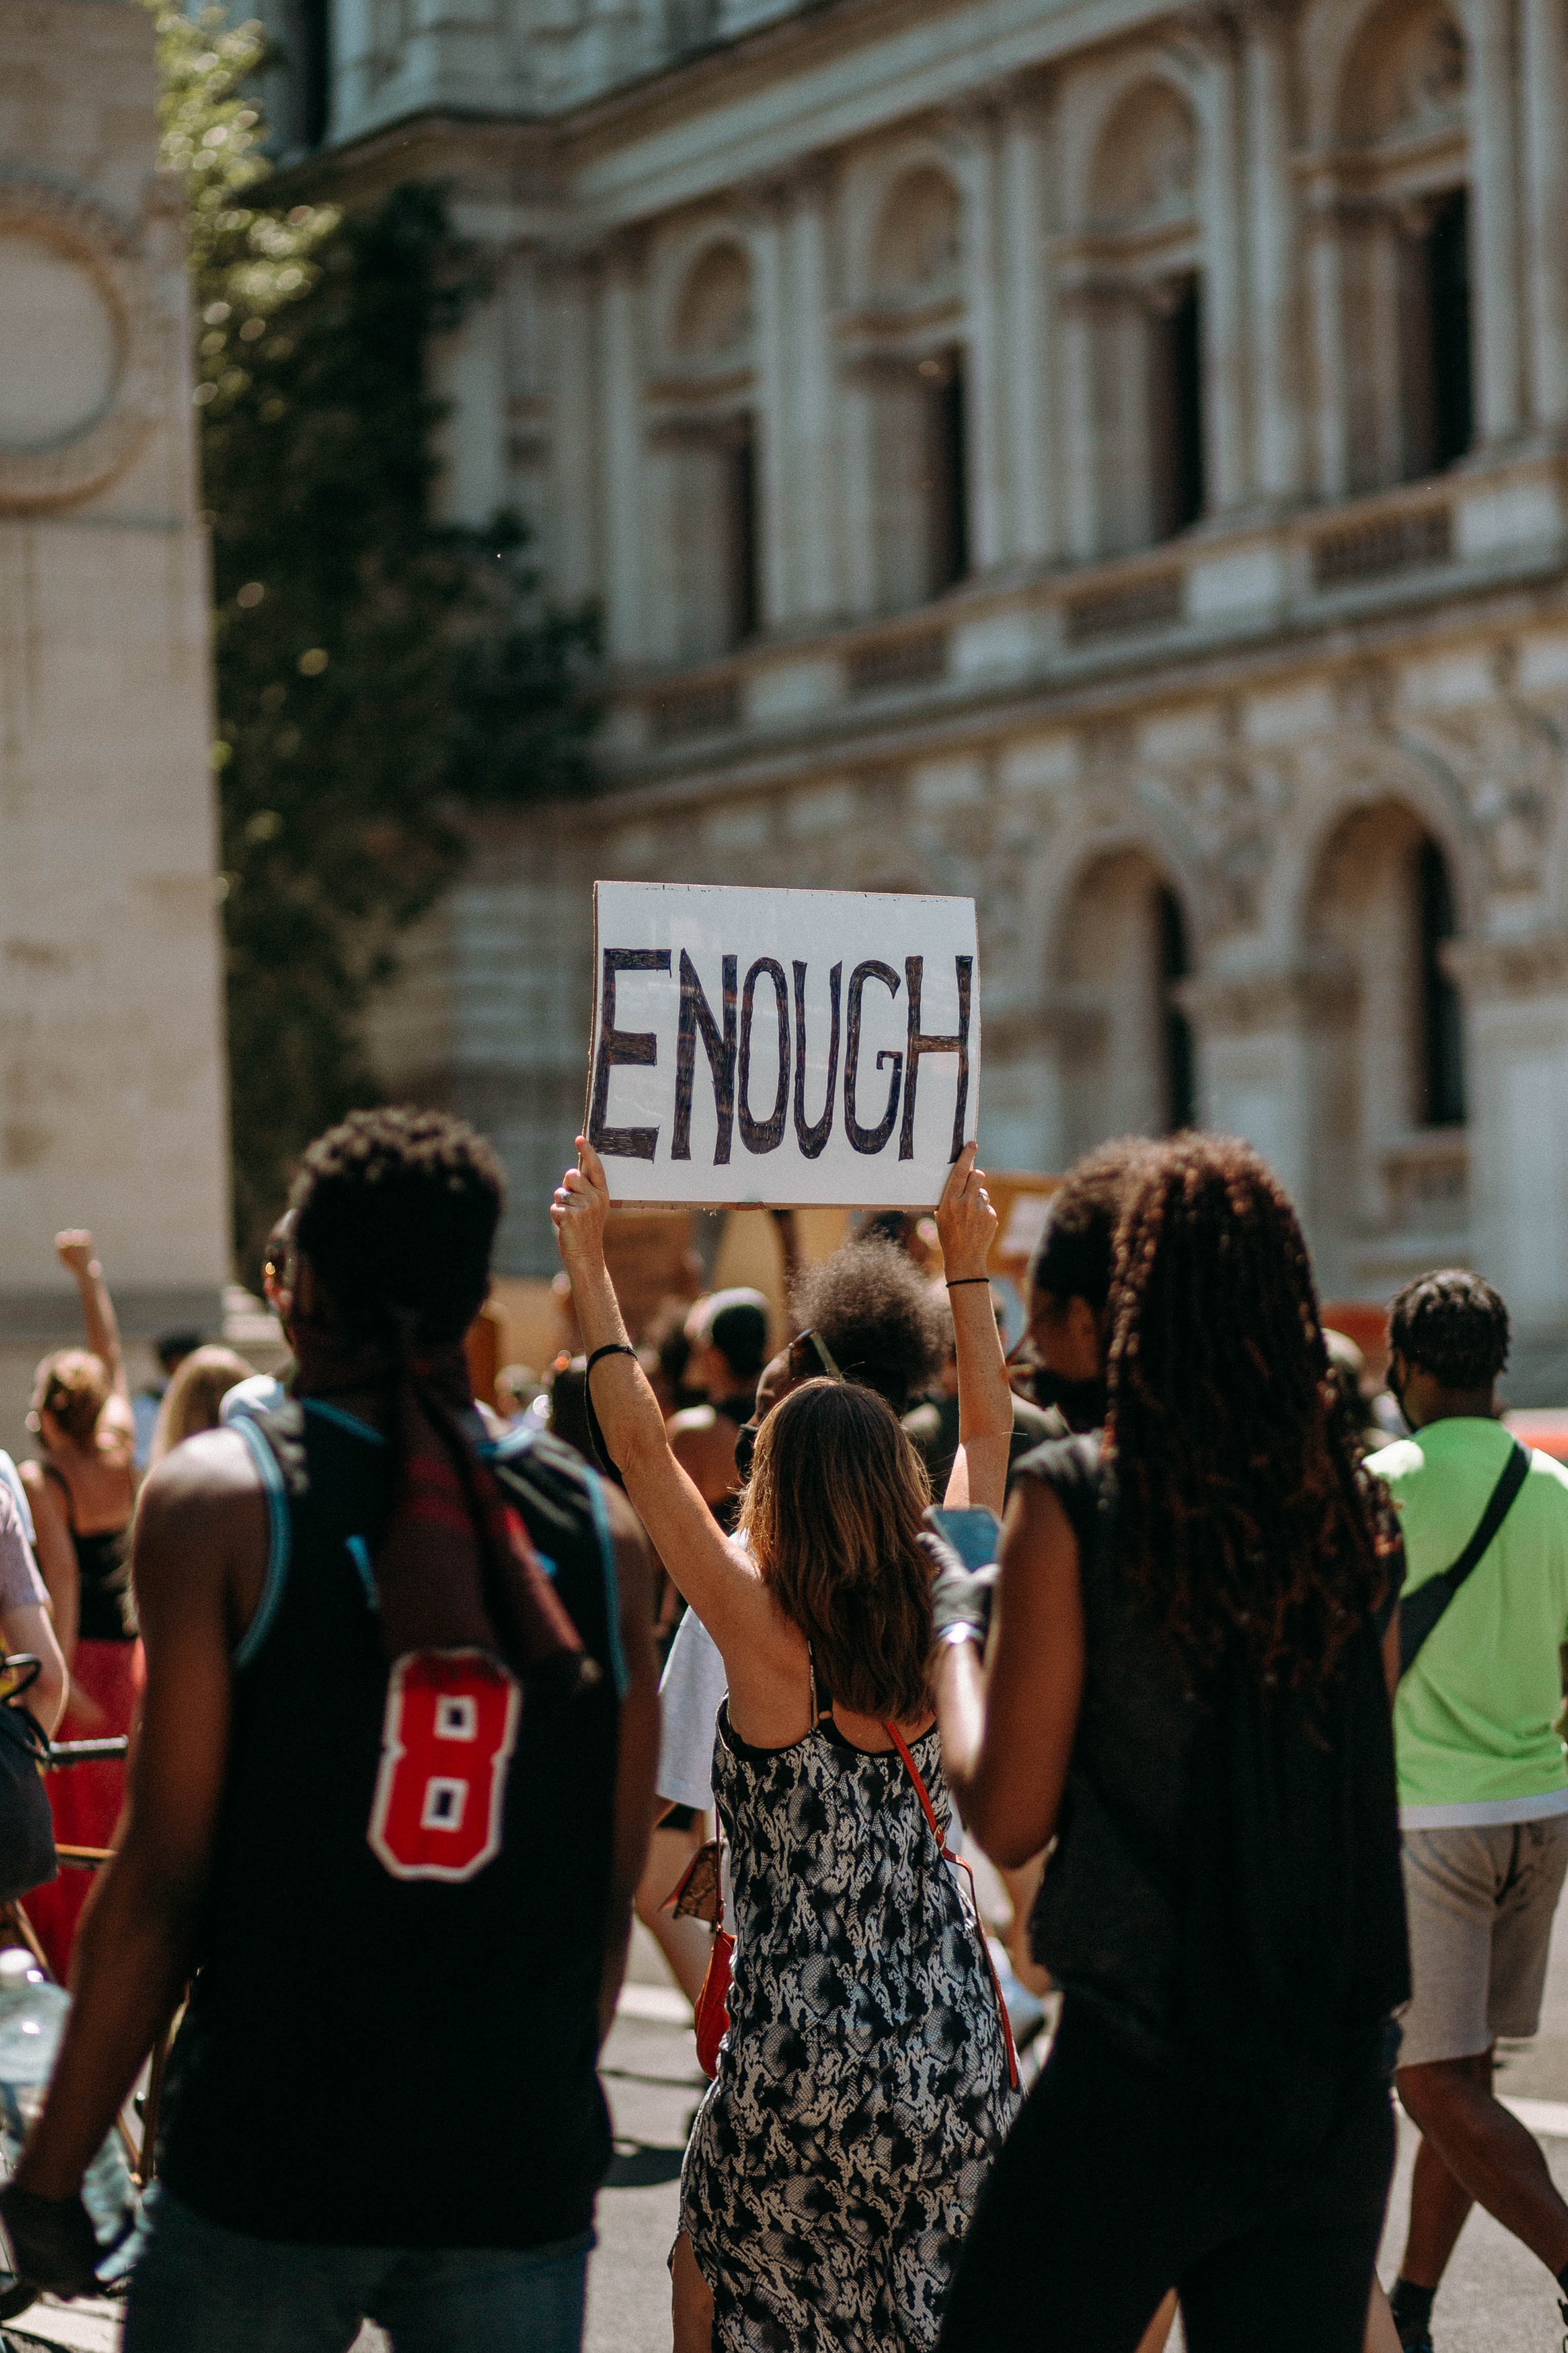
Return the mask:
{"type": "Polygon", "coordinates": [[[1234,2146],[1269,2104],[1312,2139],[1408,1998],[1373,1621],[1319,1692],[1265,1687],[1239,1642],[1194,1689],[1121,1558],[1098,1433],[1037,1447],[1020,1475],[1058,1494],[1084,1598],[1034,1953],[1140,2057],[1192,2066],[1234,2146]]]}

